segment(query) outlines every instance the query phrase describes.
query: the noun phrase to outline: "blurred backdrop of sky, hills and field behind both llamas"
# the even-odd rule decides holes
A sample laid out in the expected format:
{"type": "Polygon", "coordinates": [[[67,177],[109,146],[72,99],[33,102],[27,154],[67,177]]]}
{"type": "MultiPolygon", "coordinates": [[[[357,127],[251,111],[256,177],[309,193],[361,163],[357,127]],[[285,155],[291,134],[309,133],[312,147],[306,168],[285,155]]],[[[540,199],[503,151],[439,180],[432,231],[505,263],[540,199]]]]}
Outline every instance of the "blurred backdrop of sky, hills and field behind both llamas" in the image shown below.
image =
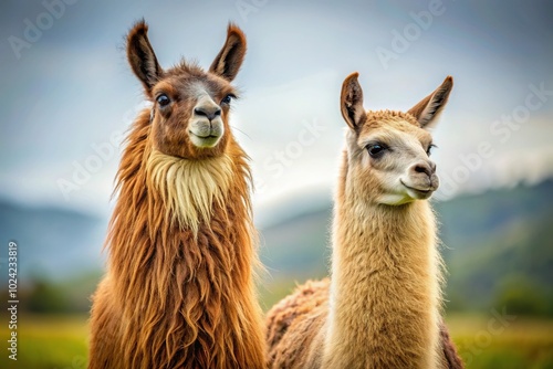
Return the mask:
{"type": "Polygon", "coordinates": [[[142,18],[163,66],[208,67],[229,21],[248,35],[231,125],[264,309],[327,275],[344,78],[359,72],[367,109],[407,110],[452,75],[432,154],[448,325],[469,368],[553,368],[553,6],[499,0],[2,1],[0,291],[6,306],[15,242],[20,303],[0,367],[86,367],[122,138],[148,106],[125,59],[142,18]]]}

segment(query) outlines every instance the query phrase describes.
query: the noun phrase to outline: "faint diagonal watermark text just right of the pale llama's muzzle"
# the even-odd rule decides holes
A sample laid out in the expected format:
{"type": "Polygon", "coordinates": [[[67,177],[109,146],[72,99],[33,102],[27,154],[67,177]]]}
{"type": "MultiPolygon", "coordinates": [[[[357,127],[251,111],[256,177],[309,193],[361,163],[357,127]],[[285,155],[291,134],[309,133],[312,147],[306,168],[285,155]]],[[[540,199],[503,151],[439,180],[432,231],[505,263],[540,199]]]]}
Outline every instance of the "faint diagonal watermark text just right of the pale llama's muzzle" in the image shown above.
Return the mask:
{"type": "Polygon", "coordinates": [[[528,89],[530,93],[526,94],[522,104],[515,106],[511,113],[502,114],[490,124],[489,130],[495,143],[481,140],[476,151],[459,156],[461,165],[455,167],[449,173],[440,173],[440,191],[436,193],[438,200],[450,199],[460,186],[470,180],[471,173],[481,169],[484,162],[495,155],[494,147],[507,144],[513,131],[518,131],[530,120],[532,112],[542,108],[553,96],[553,89],[546,89],[544,82],[539,85],[530,84],[528,89]]]}

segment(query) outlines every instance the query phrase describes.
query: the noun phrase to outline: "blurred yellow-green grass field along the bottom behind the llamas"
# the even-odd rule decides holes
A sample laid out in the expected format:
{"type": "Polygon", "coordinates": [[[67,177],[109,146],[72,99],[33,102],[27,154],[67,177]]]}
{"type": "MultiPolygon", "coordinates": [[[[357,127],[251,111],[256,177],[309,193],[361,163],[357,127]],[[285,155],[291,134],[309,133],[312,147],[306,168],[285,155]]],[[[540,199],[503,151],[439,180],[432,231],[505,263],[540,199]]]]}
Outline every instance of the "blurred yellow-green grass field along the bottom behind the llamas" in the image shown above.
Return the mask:
{"type": "MultiPolygon", "coordinates": [[[[467,368],[553,368],[553,320],[498,318],[500,313],[447,318],[467,368]]],[[[9,360],[2,349],[0,368],[86,368],[86,316],[21,316],[18,361],[9,360]]],[[[6,342],[7,325],[0,333],[6,342]]]]}

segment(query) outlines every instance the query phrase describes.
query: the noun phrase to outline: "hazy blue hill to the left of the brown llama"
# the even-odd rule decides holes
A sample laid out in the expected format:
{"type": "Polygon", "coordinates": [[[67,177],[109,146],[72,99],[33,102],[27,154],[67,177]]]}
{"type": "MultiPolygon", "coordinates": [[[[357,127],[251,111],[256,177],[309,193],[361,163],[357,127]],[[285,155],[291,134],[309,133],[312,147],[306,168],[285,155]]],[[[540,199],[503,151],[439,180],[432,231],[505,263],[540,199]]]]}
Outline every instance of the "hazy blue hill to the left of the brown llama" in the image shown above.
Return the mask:
{"type": "Polygon", "coordinates": [[[0,201],[0,281],[7,278],[8,243],[18,245],[21,283],[45,276],[64,280],[102,266],[106,221],[62,208],[33,208],[0,201]]]}

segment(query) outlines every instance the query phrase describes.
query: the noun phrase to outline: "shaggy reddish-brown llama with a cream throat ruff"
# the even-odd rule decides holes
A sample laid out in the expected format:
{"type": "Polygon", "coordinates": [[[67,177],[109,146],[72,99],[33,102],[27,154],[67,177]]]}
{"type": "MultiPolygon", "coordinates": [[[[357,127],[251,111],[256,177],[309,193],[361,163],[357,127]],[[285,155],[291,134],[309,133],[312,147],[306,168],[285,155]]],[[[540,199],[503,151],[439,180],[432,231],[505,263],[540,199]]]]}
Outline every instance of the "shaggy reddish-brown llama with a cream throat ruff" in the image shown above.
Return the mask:
{"type": "Polygon", "coordinates": [[[246,36],[229,24],[209,70],[164,70],[144,21],[127,57],[152,108],[117,172],[88,368],[264,368],[248,157],[229,126],[246,36]]]}

